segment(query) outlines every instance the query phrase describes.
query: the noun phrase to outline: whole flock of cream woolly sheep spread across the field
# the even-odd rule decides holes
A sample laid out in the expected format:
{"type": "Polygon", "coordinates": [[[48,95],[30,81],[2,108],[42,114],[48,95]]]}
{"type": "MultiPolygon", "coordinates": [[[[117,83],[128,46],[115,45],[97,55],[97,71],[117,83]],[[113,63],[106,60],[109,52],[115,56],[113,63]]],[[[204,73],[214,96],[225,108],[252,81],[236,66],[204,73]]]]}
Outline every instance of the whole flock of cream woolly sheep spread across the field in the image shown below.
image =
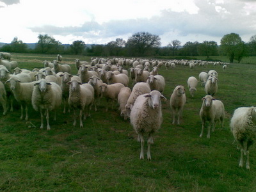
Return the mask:
{"type": "MultiPolygon", "coordinates": [[[[177,65],[193,68],[204,65],[223,65],[226,70],[228,63],[188,61],[188,60],[142,60],[121,59],[112,60],[104,58],[92,58],[90,62],[75,60],[77,75],[71,74],[71,67],[61,64],[60,54],[54,61],[43,61],[42,68],[27,70],[19,68],[16,61],[10,61],[11,55],[0,52],[0,102],[3,106],[3,115],[7,110],[13,111],[13,100],[20,104],[20,119],[28,121],[28,106],[40,111],[41,125],[44,128],[44,118],[49,124],[49,111],[54,111],[63,104],[63,113],[73,110],[74,123],[76,125],[76,111],[79,110],[79,127],[83,127],[83,120],[90,116],[92,106],[97,111],[100,98],[106,98],[109,107],[117,101],[120,115],[124,120],[130,118],[134,131],[138,134],[141,143],[140,159],[144,158],[144,136],[147,140],[147,159],[151,159],[150,145],[153,143],[153,135],[160,127],[163,120],[161,100],[167,100],[164,95],[165,80],[158,74],[161,67],[175,68],[177,65]],[[125,68],[129,68],[125,70],[125,68]],[[151,68],[151,70],[150,70],[151,68]],[[132,88],[129,88],[129,81],[132,88]],[[24,109],[26,115],[24,117],[24,109]]],[[[202,98],[200,118],[202,120],[203,136],[206,122],[209,122],[207,138],[210,138],[216,122],[220,120],[223,127],[225,108],[220,100],[214,99],[218,91],[218,72],[210,70],[199,74],[201,86],[204,86],[205,97],[202,98]]],[[[196,77],[188,78],[188,88],[191,97],[194,97],[198,80],[196,77]]],[[[173,124],[180,124],[180,116],[186,104],[186,89],[184,86],[176,86],[170,97],[170,107],[173,111],[173,124]]],[[[256,108],[238,108],[231,119],[230,127],[234,138],[241,148],[239,166],[243,166],[243,156],[246,154],[246,168],[250,169],[248,148],[255,140],[256,108]]]]}

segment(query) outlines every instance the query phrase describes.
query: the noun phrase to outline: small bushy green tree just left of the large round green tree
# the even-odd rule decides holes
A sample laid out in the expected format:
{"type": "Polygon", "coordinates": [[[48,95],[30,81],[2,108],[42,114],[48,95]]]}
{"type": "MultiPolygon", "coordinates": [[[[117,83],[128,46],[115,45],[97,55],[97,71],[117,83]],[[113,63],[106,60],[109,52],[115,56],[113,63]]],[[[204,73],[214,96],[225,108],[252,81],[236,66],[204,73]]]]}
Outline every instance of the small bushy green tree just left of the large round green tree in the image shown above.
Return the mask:
{"type": "Polygon", "coordinates": [[[214,41],[204,41],[198,45],[198,54],[200,56],[216,56],[218,54],[218,44],[214,41]]]}

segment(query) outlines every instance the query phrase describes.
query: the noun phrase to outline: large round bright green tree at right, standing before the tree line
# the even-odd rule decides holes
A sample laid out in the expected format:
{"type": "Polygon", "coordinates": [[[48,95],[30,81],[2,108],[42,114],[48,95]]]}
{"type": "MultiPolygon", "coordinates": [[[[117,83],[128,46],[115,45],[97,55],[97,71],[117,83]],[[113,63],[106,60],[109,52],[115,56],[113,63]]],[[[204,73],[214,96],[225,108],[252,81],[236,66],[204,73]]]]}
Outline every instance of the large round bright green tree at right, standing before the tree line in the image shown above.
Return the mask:
{"type": "Polygon", "coordinates": [[[223,54],[228,56],[230,63],[233,63],[235,56],[238,58],[238,55],[239,60],[241,61],[245,51],[241,49],[241,47],[243,47],[243,42],[238,34],[230,33],[224,35],[223,38],[221,38],[220,40],[220,44],[221,51],[223,52],[223,54]]]}

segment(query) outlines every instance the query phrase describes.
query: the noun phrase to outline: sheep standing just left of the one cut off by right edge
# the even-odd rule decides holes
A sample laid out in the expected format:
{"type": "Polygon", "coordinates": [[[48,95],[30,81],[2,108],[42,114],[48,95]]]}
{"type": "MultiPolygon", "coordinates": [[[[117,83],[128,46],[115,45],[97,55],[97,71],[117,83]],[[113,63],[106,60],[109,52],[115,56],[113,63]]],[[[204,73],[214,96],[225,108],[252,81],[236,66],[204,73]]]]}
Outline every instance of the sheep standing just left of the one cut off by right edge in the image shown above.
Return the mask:
{"type": "Polygon", "coordinates": [[[212,97],[211,95],[205,95],[202,100],[203,103],[199,113],[202,121],[202,131],[200,134],[200,138],[202,138],[204,134],[204,127],[206,121],[209,121],[207,138],[210,138],[211,127],[213,132],[216,122],[218,120],[221,121],[221,128],[223,128],[225,108],[223,102],[221,102],[220,100],[215,100],[214,97],[212,97]]]}

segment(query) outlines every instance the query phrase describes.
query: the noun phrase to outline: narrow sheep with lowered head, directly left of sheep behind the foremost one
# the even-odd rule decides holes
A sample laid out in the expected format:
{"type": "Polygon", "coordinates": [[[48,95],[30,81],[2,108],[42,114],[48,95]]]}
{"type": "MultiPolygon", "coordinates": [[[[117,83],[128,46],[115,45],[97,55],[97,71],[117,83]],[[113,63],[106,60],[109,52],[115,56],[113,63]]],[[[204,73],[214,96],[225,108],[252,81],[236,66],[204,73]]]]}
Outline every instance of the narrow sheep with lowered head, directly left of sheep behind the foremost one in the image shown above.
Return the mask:
{"type": "Polygon", "coordinates": [[[127,120],[127,113],[125,105],[127,104],[127,100],[131,95],[131,89],[129,87],[123,87],[117,97],[117,102],[119,104],[120,116],[124,116],[124,120],[127,120]]]}

